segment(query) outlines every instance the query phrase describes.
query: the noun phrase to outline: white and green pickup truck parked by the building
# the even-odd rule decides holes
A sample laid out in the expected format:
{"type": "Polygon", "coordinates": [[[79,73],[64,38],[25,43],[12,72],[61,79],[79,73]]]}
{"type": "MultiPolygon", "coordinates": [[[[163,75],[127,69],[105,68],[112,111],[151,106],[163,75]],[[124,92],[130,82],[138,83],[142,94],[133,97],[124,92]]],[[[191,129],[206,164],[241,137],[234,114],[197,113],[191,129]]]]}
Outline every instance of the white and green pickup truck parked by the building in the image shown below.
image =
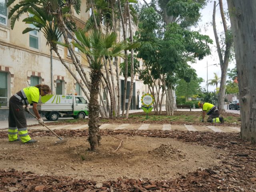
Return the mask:
{"type": "Polygon", "coordinates": [[[59,117],[85,118],[88,116],[88,102],[77,95],[46,95],[40,97],[37,105],[42,116],[51,121],[59,117]]]}

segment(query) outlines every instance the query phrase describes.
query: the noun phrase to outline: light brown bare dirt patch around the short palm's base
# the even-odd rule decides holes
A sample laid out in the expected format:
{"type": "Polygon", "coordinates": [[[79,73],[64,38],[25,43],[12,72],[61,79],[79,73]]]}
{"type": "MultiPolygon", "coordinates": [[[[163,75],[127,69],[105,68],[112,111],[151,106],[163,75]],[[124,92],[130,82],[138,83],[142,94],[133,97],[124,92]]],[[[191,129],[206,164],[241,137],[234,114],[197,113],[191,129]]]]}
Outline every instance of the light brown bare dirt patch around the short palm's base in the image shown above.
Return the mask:
{"type": "MultiPolygon", "coordinates": [[[[36,174],[86,178],[96,182],[117,178],[170,179],[179,174],[218,164],[220,151],[182,143],[172,138],[116,135],[103,136],[100,150],[90,152],[85,137],[54,144],[54,137],[38,137],[37,144],[0,140],[0,169],[16,168],[36,174]],[[179,165],[179,166],[178,166],[179,165]]],[[[221,155],[223,155],[221,153],[221,155]]]]}

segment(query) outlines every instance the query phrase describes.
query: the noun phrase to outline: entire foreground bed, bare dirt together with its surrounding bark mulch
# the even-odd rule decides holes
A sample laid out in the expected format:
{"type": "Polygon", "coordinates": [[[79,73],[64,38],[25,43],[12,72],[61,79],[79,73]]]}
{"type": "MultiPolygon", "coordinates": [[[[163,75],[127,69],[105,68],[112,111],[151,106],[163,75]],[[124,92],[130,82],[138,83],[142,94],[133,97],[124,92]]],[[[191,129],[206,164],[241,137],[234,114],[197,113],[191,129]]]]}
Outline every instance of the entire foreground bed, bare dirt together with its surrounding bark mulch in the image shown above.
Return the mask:
{"type": "Polygon", "coordinates": [[[36,144],[8,142],[0,132],[0,192],[256,191],[256,148],[237,133],[100,130],[91,152],[88,130],[33,130],[36,144]],[[116,148],[123,140],[123,145],[116,148]]]}

